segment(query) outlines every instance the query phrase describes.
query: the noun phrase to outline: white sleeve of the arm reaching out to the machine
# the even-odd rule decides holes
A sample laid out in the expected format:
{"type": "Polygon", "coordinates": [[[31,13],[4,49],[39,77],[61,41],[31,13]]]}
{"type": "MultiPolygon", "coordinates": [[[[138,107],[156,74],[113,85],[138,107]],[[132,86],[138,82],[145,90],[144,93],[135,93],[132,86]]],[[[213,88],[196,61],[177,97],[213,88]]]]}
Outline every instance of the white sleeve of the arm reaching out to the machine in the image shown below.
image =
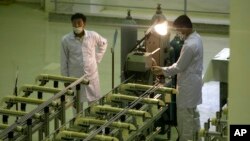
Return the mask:
{"type": "Polygon", "coordinates": [[[193,51],[190,47],[183,45],[181,54],[176,63],[169,67],[163,67],[163,74],[165,76],[173,76],[177,73],[183,72],[190,65],[193,57],[193,51]]]}

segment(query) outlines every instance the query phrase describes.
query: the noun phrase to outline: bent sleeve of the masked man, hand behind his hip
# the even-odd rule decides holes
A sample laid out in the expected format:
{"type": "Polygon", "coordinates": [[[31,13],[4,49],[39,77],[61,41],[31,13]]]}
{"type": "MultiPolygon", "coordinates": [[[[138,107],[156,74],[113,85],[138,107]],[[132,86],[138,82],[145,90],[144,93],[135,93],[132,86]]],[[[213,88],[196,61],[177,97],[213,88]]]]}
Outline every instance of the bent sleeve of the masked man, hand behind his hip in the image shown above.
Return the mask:
{"type": "Polygon", "coordinates": [[[97,63],[100,63],[107,49],[108,43],[107,40],[102,36],[100,36],[99,34],[97,34],[96,36],[96,41],[97,41],[96,61],[97,63]]]}

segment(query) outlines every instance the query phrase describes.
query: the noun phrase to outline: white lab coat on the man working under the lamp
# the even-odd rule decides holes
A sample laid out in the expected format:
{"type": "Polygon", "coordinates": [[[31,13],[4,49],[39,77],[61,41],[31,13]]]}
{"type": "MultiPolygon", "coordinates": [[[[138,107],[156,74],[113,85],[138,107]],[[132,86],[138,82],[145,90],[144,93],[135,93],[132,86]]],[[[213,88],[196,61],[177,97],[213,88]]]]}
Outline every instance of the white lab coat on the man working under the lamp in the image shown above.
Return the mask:
{"type": "Polygon", "coordinates": [[[177,62],[163,69],[165,76],[177,74],[177,107],[194,108],[202,103],[203,45],[197,32],[187,37],[177,62]]]}

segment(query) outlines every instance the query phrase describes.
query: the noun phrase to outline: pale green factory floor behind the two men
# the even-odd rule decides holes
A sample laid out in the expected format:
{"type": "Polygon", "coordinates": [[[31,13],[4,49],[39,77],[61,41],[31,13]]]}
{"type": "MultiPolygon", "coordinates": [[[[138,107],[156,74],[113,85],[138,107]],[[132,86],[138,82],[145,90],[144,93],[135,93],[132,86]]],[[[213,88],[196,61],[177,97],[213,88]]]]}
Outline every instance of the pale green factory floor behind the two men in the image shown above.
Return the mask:
{"type": "MultiPolygon", "coordinates": [[[[111,90],[111,46],[117,27],[88,25],[109,41],[107,52],[99,65],[102,94],[111,90]]],[[[48,13],[39,5],[13,3],[0,5],[0,99],[12,95],[16,74],[17,86],[34,84],[41,73],[60,74],[61,37],[72,30],[70,21],[49,22],[48,13]]],[[[138,30],[142,38],[145,29],[138,30]]],[[[115,48],[115,85],[120,83],[120,31],[115,48]]],[[[223,48],[229,47],[228,35],[201,34],[204,44],[204,71],[210,60],[223,48]]],[[[219,83],[207,82],[203,86],[203,103],[199,105],[201,126],[219,110],[219,83]]],[[[177,138],[173,128],[171,140],[177,138]]],[[[164,136],[164,135],[162,135],[164,136]]],[[[161,138],[161,137],[159,137],[161,138]]],[[[162,137],[164,138],[164,137],[162,137]]]]}

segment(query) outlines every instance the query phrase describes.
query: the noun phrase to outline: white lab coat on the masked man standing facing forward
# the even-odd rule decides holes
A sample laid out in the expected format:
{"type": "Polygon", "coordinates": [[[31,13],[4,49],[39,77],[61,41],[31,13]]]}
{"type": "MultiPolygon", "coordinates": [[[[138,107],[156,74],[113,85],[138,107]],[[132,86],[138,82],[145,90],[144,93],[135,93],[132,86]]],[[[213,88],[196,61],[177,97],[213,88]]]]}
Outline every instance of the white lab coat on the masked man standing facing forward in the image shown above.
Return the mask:
{"type": "Polygon", "coordinates": [[[94,31],[85,30],[82,39],[71,32],[61,41],[61,74],[69,77],[86,75],[89,85],[81,85],[80,101],[95,101],[101,97],[97,63],[107,48],[107,40],[94,31]]]}

